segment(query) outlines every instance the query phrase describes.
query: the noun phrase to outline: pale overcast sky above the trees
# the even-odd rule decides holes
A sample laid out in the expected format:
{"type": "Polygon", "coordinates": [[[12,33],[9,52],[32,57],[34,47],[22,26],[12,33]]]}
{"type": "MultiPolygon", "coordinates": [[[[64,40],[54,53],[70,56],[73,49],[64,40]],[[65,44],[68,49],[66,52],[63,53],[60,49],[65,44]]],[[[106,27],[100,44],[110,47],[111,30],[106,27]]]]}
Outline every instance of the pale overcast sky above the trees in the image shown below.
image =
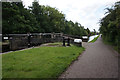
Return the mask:
{"type": "MultiPolygon", "coordinates": [[[[25,7],[34,0],[22,0],[25,7]]],[[[105,8],[119,0],[39,0],[40,5],[49,5],[65,14],[67,20],[78,22],[91,31],[99,29],[99,20],[104,17],[105,8]]]]}

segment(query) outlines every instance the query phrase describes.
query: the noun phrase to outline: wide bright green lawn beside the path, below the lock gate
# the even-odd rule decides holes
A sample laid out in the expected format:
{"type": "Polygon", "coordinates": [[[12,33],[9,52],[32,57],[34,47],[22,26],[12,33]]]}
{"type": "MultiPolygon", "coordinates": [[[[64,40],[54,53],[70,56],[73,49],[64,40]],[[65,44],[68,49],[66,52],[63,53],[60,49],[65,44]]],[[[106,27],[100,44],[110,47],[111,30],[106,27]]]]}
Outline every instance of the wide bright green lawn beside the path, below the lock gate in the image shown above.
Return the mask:
{"type": "Polygon", "coordinates": [[[83,47],[39,47],[2,55],[3,78],[57,78],[83,47]]]}

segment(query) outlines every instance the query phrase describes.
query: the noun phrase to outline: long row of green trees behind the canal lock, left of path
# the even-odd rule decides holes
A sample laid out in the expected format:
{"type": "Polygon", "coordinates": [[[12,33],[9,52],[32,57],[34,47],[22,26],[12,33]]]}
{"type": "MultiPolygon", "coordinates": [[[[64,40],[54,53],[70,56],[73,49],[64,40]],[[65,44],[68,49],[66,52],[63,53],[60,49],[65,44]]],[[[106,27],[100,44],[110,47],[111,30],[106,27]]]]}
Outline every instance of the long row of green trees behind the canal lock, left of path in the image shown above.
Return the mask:
{"type": "Polygon", "coordinates": [[[82,36],[89,33],[80,23],[67,21],[65,14],[56,8],[38,2],[33,2],[28,9],[20,2],[3,2],[2,12],[3,34],[62,32],[82,36]]]}

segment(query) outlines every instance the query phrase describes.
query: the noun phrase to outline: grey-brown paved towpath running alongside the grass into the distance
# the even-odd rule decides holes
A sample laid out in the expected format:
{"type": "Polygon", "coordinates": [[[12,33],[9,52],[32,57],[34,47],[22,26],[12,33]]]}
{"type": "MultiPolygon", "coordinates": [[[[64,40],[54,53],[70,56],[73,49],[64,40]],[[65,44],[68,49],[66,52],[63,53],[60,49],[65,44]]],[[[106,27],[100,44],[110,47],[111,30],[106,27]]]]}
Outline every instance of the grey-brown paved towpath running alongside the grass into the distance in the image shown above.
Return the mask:
{"type": "Polygon", "coordinates": [[[95,43],[83,43],[86,51],[60,78],[117,78],[118,54],[104,45],[101,37],[95,43]]]}

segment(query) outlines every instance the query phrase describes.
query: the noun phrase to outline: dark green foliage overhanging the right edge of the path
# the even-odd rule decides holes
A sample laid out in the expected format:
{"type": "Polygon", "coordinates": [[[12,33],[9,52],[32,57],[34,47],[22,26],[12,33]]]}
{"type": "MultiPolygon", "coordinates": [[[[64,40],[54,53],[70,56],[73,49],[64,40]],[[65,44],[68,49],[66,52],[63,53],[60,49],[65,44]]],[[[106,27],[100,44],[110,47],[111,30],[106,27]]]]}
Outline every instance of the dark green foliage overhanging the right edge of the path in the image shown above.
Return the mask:
{"type": "Polygon", "coordinates": [[[120,49],[120,1],[107,8],[106,16],[100,21],[100,32],[105,41],[120,49]]]}

